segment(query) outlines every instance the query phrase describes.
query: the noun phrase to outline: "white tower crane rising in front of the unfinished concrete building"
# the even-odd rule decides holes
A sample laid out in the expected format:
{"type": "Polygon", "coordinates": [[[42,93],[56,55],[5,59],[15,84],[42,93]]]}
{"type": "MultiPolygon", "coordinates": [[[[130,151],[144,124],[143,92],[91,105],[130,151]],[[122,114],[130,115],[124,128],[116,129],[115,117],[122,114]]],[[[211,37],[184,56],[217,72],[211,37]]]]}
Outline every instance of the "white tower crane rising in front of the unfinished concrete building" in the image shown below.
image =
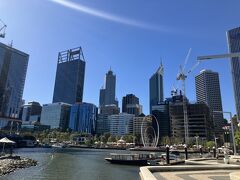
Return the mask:
{"type": "Polygon", "coordinates": [[[188,51],[188,54],[185,58],[183,66],[180,65],[180,71],[177,74],[177,80],[182,81],[182,95],[183,95],[183,116],[184,116],[184,132],[185,132],[185,144],[188,144],[189,140],[189,131],[188,131],[188,111],[187,111],[187,98],[186,98],[186,87],[185,87],[185,80],[188,75],[199,65],[199,61],[187,72],[185,72],[185,67],[187,65],[188,59],[191,54],[191,48],[188,51]]]}

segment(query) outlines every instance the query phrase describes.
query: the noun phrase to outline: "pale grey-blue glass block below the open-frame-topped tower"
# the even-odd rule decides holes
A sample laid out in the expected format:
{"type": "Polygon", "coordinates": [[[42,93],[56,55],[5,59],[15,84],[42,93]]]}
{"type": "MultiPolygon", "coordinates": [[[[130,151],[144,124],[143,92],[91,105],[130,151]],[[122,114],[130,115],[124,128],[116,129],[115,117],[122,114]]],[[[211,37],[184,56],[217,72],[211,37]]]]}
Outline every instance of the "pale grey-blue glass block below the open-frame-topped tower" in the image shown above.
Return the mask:
{"type": "Polygon", "coordinates": [[[51,129],[65,131],[69,124],[70,109],[70,104],[61,102],[44,104],[40,122],[43,125],[49,125],[51,129]]]}

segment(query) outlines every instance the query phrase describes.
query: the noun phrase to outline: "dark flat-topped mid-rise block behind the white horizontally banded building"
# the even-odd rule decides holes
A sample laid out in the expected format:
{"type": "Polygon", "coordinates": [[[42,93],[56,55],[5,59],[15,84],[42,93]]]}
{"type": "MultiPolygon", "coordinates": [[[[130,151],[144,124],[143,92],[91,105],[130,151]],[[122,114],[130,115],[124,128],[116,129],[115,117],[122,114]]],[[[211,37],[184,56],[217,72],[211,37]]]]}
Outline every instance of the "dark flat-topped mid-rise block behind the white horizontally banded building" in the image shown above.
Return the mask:
{"type": "Polygon", "coordinates": [[[142,106],[139,104],[139,98],[134,94],[127,94],[122,98],[122,112],[139,116],[142,113],[142,106]]]}

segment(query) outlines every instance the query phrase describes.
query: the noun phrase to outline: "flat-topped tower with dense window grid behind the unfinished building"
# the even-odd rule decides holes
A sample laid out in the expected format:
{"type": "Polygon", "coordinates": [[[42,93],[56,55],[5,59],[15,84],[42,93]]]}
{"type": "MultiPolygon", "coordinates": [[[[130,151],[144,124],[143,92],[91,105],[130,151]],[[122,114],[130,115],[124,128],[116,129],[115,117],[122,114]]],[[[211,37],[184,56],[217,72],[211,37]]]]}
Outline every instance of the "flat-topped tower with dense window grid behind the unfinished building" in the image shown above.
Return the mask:
{"type": "Polygon", "coordinates": [[[224,121],[222,113],[214,113],[214,111],[222,111],[218,73],[211,70],[202,70],[195,77],[195,83],[197,102],[203,102],[209,106],[210,113],[213,115],[214,130],[216,136],[219,136],[222,132],[224,121]]]}

